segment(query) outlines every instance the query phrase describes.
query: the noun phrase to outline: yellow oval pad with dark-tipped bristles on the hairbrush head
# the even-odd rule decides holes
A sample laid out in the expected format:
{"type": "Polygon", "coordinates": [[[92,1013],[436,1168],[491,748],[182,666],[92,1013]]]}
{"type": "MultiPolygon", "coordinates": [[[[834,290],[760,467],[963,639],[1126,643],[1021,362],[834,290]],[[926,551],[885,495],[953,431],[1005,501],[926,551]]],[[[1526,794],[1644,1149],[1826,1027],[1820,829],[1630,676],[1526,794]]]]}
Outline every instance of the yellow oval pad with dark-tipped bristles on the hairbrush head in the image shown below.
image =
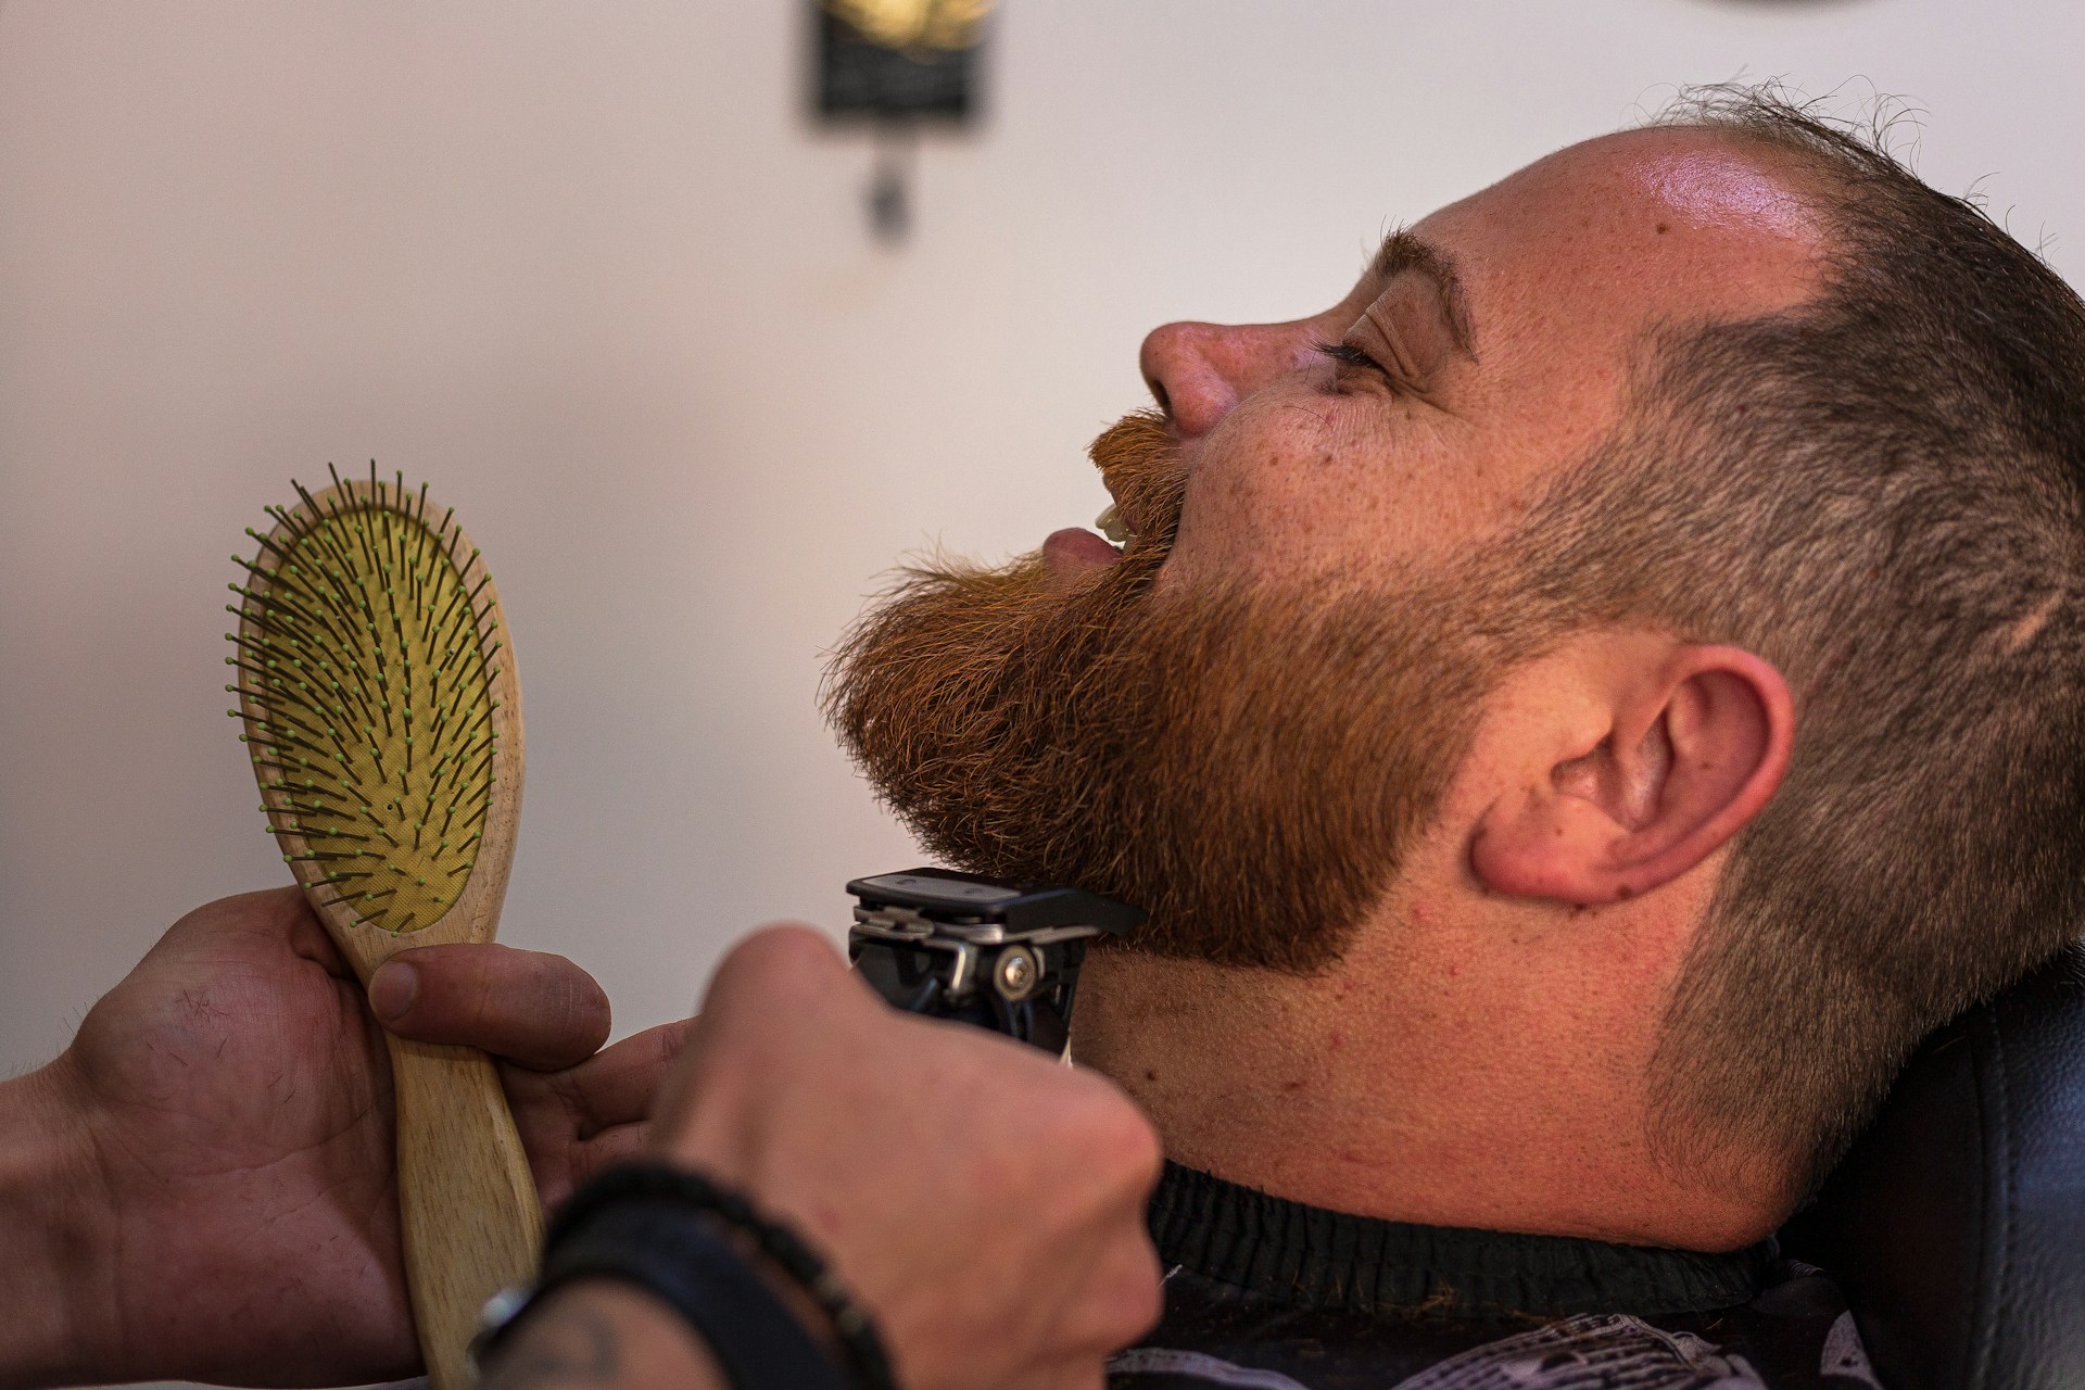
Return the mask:
{"type": "MultiPolygon", "coordinates": [[[[292,483],[296,486],[296,483],[292,483]]],[[[469,884],[492,804],[490,577],[459,552],[455,513],[427,523],[404,479],[338,486],[271,508],[244,623],[244,709],[269,831],[321,904],[386,932],[440,921],[469,884]]]]}

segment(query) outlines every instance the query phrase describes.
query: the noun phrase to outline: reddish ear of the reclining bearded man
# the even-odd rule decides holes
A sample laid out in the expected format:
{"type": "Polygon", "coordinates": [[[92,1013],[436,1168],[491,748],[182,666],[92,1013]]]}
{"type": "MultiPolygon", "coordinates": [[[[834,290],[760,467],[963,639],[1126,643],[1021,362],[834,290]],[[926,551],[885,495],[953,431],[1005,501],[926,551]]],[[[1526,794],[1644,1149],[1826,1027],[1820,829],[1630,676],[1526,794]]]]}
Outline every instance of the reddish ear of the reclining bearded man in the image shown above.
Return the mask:
{"type": "Polygon", "coordinates": [[[1485,809],[1470,869],[1491,892],[1593,904],[1668,884],[1766,806],[1795,744],[1781,671],[1735,646],[1674,648],[1605,713],[1591,750],[1485,809]]]}

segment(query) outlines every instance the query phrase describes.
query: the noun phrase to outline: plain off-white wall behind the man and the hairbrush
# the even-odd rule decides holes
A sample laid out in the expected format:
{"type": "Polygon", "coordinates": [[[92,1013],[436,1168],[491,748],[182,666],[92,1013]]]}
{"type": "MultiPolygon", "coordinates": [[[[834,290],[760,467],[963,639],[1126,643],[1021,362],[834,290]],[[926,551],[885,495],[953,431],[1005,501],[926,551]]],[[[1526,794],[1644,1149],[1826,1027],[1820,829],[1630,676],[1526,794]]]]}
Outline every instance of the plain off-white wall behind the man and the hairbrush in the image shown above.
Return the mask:
{"type": "Polygon", "coordinates": [[[1088,521],[1145,329],[1320,308],[1387,223],[1735,75],[1920,98],[1933,181],[2075,273],[2081,40],[2075,0],[1009,0],[888,252],[782,0],[0,0],[0,1073],[284,879],[219,634],[290,475],[375,456],[486,548],[502,938],[630,1032],[913,859],[819,648],[901,550],[1088,521]]]}

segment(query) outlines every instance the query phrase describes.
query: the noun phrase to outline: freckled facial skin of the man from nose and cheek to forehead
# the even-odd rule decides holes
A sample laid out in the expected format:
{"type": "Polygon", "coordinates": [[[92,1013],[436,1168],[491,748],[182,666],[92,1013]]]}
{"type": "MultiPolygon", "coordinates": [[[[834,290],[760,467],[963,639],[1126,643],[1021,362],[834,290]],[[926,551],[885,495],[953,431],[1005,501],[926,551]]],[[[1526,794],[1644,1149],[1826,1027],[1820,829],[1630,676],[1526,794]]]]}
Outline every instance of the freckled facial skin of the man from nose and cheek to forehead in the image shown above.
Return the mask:
{"type": "MultiPolygon", "coordinates": [[[[1174,581],[1451,554],[1507,521],[1528,481],[1612,427],[1647,300],[1758,313],[1789,300],[1791,275],[1812,281],[1812,242],[1787,227],[1762,233],[1743,215],[1718,221],[1701,204],[1658,202],[1645,183],[1670,181],[1674,165],[1710,171],[1687,183],[1689,196],[1756,183],[1751,165],[1714,135],[1639,131],[1553,154],[1416,223],[1455,256],[1480,306],[1478,361],[1451,361],[1414,383],[1422,398],[1334,394],[1332,367],[1316,352],[1395,296],[1395,281],[1364,279],[1330,311],[1293,323],[1157,329],[1145,344],[1147,377],[1178,354],[1201,354],[1224,373],[1224,388],[1207,392],[1213,404],[1176,404],[1195,471],[1174,581]],[[1564,227],[1526,215],[1566,202],[1589,206],[1564,227]],[[1295,467],[1299,456],[1318,467],[1295,467]]],[[[1741,213],[1758,202],[1764,196],[1745,194],[1741,213]]],[[[1193,386],[1197,373],[1186,375],[1193,386]]]]}

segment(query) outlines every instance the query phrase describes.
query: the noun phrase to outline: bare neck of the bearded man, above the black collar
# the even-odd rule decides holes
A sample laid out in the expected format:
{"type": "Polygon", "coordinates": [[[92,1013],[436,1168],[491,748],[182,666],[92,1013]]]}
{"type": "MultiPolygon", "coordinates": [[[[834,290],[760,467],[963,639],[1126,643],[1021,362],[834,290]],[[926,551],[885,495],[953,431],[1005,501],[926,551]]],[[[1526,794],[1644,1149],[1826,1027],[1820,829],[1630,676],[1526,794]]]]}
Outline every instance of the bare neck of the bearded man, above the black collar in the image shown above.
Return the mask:
{"type": "Polygon", "coordinates": [[[1676,946],[1618,950],[1578,919],[1532,940],[1407,929],[1395,952],[1384,936],[1307,977],[1095,952],[1074,1052],[1170,1159],[1297,1202],[1691,1250],[1774,1230],[1772,1184],[1706,1182],[1649,1148],[1645,998],[1676,946]]]}

